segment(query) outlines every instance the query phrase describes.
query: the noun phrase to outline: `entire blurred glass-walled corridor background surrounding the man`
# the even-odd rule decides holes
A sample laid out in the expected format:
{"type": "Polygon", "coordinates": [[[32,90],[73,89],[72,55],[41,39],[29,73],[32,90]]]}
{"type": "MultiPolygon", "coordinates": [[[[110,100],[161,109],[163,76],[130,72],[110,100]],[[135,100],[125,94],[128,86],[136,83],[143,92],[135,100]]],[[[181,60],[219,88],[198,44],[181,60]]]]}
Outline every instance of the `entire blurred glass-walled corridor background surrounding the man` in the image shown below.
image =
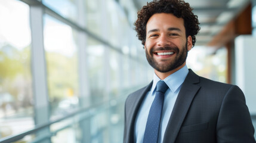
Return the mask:
{"type": "MultiPolygon", "coordinates": [[[[256,127],[256,0],[187,0],[187,66],[238,85],[256,127]]],[[[122,142],[124,102],[153,77],[134,29],[146,0],[0,0],[0,142],[122,142]]]]}

